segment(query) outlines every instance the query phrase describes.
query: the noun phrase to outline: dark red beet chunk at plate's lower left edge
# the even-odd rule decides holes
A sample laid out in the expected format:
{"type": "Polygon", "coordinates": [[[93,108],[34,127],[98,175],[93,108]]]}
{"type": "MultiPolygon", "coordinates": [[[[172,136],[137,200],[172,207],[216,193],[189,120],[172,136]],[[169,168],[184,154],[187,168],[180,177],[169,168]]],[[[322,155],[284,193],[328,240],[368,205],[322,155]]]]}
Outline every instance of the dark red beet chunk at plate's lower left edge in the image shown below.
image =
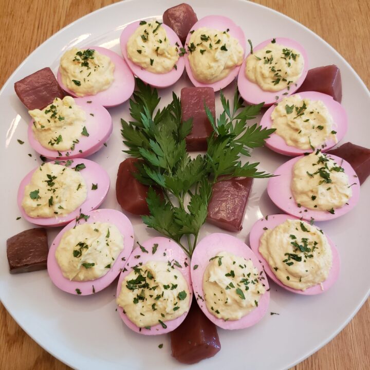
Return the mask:
{"type": "Polygon", "coordinates": [[[7,240],[10,273],[45,270],[49,252],[44,228],[29,229],[7,240]]]}

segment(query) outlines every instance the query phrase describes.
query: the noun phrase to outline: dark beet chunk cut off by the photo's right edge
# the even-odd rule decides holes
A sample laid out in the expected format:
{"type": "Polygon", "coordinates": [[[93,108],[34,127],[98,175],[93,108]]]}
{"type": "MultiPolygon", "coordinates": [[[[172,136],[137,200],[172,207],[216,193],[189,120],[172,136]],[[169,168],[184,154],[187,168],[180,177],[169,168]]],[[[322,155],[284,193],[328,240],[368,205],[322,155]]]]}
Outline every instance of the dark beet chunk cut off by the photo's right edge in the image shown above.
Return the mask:
{"type": "Polygon", "coordinates": [[[355,170],[360,185],[370,175],[370,149],[347,142],[336,149],[329,150],[326,154],[336,155],[347,161],[355,170]]]}

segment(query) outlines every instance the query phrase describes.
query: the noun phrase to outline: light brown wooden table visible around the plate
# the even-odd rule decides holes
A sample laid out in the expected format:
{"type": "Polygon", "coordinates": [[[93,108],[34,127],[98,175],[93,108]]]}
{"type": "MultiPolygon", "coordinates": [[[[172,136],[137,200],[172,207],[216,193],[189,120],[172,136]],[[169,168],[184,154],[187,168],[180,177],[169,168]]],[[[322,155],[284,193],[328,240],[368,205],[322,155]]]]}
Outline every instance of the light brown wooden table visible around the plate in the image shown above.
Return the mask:
{"type": "MultiPolygon", "coordinates": [[[[42,42],[72,21],[115,0],[0,0],[0,86],[42,42]]],[[[260,0],[309,27],[339,51],[370,86],[368,0],[260,0]]],[[[176,2],[174,2],[176,5],[176,2]]],[[[4,246],[3,246],[4,247],[4,246]]],[[[69,369],[36,344],[0,306],[0,368],[69,369]]],[[[329,344],[294,370],[370,368],[369,300],[329,344]]]]}

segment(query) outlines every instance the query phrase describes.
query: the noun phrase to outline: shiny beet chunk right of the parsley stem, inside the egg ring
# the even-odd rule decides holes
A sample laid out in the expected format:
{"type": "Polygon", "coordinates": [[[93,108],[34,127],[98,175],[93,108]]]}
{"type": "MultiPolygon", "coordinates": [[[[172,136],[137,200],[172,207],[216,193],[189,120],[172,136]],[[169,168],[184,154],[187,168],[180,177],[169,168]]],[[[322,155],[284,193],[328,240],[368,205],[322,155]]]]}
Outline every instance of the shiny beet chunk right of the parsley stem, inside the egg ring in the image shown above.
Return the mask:
{"type": "Polygon", "coordinates": [[[213,185],[207,221],[224,230],[240,231],[253,178],[223,178],[225,176],[220,176],[219,181],[213,185]]]}

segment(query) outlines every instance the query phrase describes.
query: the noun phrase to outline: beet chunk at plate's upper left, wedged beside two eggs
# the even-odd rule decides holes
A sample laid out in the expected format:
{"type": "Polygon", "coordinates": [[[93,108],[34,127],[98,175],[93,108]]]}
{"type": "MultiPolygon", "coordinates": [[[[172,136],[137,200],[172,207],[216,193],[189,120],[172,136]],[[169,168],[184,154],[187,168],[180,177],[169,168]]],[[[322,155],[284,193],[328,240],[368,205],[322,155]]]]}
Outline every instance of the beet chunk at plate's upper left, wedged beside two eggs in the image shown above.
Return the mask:
{"type": "Polygon", "coordinates": [[[40,69],[15,82],[14,90],[28,110],[44,109],[55,98],[63,99],[65,96],[49,67],[40,69]]]}

